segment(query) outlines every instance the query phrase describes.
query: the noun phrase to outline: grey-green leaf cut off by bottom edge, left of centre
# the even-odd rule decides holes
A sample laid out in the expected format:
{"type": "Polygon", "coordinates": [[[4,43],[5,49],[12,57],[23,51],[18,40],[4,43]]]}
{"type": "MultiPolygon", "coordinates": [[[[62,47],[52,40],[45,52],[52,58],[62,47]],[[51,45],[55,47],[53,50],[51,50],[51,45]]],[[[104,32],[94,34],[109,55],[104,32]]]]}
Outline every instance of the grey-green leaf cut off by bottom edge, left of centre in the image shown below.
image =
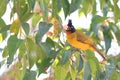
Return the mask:
{"type": "Polygon", "coordinates": [[[36,75],[35,71],[26,70],[23,80],[36,80],[36,75]]]}

